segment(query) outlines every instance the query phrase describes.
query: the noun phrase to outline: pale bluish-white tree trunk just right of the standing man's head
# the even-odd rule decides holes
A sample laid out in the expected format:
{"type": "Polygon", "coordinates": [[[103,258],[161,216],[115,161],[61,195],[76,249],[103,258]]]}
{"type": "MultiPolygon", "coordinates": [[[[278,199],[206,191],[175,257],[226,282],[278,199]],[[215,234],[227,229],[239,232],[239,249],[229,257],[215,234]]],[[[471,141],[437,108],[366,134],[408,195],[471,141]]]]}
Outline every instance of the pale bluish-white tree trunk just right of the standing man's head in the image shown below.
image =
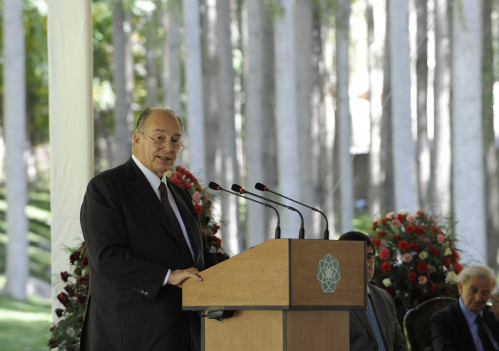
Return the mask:
{"type": "Polygon", "coordinates": [[[200,14],[198,0],[182,0],[185,26],[185,85],[187,86],[187,135],[189,169],[206,182],[205,115],[202,98],[200,14]]]}

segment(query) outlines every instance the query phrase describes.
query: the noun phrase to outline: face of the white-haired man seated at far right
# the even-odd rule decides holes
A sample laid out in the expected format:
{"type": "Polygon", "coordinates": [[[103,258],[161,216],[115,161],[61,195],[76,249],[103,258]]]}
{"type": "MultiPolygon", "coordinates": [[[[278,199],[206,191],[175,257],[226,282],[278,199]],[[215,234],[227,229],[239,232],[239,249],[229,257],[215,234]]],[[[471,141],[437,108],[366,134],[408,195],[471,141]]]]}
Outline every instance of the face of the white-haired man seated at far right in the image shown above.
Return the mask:
{"type": "Polygon", "coordinates": [[[491,279],[470,277],[465,284],[458,282],[461,299],[468,310],[480,312],[487,303],[493,288],[491,279]]]}

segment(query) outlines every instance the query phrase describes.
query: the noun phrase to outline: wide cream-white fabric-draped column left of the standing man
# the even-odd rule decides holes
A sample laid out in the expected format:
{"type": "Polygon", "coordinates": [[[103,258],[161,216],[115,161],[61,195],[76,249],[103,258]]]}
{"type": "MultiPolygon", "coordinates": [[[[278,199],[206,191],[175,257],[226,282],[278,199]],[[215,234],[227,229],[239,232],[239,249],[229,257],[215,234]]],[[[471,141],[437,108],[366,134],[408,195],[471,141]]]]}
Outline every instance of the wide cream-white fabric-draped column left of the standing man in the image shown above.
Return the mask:
{"type": "Polygon", "coordinates": [[[48,0],[52,285],[69,268],[64,247],[83,240],[80,206],[93,177],[92,66],[91,1],[48,0]]]}

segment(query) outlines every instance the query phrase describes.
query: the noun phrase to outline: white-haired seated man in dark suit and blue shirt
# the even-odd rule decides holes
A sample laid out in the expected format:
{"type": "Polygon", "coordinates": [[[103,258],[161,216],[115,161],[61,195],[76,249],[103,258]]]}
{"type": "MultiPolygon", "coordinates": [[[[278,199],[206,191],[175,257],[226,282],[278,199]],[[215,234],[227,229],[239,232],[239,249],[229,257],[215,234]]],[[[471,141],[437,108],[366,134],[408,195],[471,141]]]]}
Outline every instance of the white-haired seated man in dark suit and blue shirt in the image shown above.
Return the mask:
{"type": "Polygon", "coordinates": [[[430,318],[435,351],[498,351],[499,298],[493,271],[469,266],[458,276],[459,300],[430,318]],[[489,298],[492,305],[487,305],[489,298]]]}

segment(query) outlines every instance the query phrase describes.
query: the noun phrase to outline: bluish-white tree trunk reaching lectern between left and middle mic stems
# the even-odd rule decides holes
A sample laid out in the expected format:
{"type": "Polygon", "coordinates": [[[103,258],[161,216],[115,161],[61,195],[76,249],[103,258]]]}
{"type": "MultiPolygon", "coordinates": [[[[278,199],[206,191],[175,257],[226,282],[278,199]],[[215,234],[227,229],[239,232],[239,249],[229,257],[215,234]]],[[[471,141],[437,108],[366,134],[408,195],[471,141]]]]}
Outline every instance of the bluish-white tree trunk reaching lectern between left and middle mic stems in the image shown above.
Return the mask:
{"type": "MultiPolygon", "coordinates": [[[[296,75],[294,57],[294,9],[292,0],[282,0],[284,14],[274,19],[275,53],[275,104],[277,115],[277,157],[279,167],[279,192],[291,199],[300,201],[299,172],[302,169],[297,153],[298,140],[296,110],[296,75]]],[[[301,131],[300,131],[301,132],[301,131]]],[[[290,201],[283,201],[294,206],[290,201]]],[[[293,211],[283,211],[282,236],[297,238],[299,234],[299,215],[293,211]]],[[[307,236],[307,233],[305,233],[307,236]]],[[[308,234],[309,235],[309,234],[308,234]]]]}

